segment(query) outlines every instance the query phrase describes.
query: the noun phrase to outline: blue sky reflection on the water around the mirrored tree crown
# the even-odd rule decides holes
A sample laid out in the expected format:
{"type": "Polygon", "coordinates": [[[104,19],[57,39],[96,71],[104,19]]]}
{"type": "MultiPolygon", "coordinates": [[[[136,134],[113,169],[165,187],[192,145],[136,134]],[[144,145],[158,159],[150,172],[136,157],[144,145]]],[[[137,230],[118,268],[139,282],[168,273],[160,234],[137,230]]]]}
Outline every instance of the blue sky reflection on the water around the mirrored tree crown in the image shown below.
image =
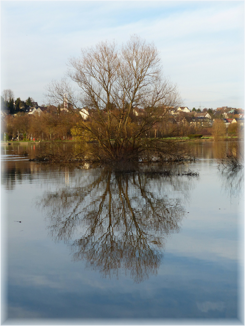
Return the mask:
{"type": "MultiPolygon", "coordinates": [[[[119,271],[118,279],[103,278],[99,271],[85,268],[86,261],[72,260],[69,241],[54,242],[48,234],[49,218],[44,219],[37,200],[56,191],[57,176],[63,178],[62,186],[72,188],[81,173],[91,182],[91,170],[68,173],[51,166],[45,173],[42,169],[35,172],[31,182],[25,178],[7,191],[3,180],[2,196],[8,212],[5,267],[9,317],[237,318],[243,197],[239,202],[231,201],[229,193],[224,193],[214,161],[201,160],[187,166],[199,170],[200,176],[180,177],[178,181],[182,194],[175,193],[175,197],[179,196],[186,211],[181,230],[164,240],[157,275],[141,283],[135,283],[124,270],[119,271]],[[191,187],[185,187],[190,183],[191,187]]],[[[161,187],[157,191],[161,192],[161,187]]],[[[171,198],[171,194],[174,191],[165,195],[171,198]]]]}

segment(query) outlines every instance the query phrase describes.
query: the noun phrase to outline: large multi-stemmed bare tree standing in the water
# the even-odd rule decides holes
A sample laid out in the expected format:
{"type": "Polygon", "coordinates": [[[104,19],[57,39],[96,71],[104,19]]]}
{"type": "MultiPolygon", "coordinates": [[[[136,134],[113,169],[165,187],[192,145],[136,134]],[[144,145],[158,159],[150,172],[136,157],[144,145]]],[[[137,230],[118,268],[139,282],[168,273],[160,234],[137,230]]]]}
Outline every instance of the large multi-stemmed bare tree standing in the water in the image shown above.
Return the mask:
{"type": "MultiPolygon", "coordinates": [[[[181,98],[176,84],[162,74],[159,52],[153,43],[134,35],[127,44],[100,42],[82,49],[79,58],[69,60],[68,79],[47,86],[50,103],[66,99],[80,116],[73,134],[97,140],[99,160],[163,158],[183,153],[179,140],[150,138],[157,124],[165,123],[168,109],[178,107],[181,98]],[[79,110],[86,108],[87,119],[79,110]],[[140,115],[135,108],[141,109],[140,115]]],[[[168,135],[169,136],[169,135],[168,135]]]]}

